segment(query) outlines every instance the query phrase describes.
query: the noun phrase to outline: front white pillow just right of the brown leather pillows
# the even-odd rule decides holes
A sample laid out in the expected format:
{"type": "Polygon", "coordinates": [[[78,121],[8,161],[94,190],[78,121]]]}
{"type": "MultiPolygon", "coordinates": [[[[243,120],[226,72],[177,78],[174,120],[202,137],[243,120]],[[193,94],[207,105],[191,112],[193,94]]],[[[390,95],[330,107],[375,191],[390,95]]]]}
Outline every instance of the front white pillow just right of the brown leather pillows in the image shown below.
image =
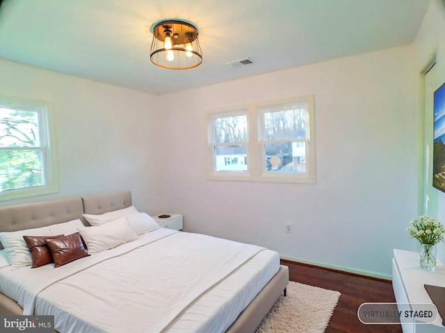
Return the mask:
{"type": "Polygon", "coordinates": [[[83,227],[77,230],[86,242],[90,255],[138,239],[138,235],[130,227],[125,216],[102,225],[83,227]]]}

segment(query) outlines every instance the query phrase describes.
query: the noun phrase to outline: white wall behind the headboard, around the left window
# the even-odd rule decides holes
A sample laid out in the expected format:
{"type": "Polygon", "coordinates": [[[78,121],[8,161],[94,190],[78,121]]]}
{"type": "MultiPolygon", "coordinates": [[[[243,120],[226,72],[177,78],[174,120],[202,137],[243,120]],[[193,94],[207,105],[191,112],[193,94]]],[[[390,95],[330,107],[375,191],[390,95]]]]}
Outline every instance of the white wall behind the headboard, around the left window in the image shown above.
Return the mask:
{"type": "Polygon", "coordinates": [[[0,94],[54,103],[60,191],[1,206],[130,189],[154,210],[156,96],[0,60],[0,94]]]}

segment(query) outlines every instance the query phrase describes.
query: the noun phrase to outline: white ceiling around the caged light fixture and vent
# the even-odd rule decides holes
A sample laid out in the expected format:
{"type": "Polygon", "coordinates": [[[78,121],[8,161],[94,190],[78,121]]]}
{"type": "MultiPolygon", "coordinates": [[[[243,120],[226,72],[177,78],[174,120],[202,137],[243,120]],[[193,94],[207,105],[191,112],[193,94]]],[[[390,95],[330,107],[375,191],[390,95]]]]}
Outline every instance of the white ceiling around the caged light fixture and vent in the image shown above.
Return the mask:
{"type": "Polygon", "coordinates": [[[3,0],[0,58],[160,95],[409,44],[429,2],[3,0]],[[202,65],[150,62],[150,26],[165,18],[198,26],[202,65]]]}

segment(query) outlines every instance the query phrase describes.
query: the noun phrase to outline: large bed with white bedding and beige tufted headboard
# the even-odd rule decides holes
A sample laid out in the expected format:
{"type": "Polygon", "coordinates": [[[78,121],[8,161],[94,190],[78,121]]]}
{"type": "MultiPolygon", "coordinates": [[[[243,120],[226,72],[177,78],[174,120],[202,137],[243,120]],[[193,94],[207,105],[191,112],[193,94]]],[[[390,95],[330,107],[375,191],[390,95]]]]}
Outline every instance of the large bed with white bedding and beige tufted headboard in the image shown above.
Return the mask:
{"type": "MultiPolygon", "coordinates": [[[[130,207],[130,191],[3,207],[0,232],[88,231],[84,214],[130,207]]],[[[158,228],[60,268],[0,268],[0,314],[54,314],[58,332],[254,332],[288,282],[274,251],[158,228]]]]}

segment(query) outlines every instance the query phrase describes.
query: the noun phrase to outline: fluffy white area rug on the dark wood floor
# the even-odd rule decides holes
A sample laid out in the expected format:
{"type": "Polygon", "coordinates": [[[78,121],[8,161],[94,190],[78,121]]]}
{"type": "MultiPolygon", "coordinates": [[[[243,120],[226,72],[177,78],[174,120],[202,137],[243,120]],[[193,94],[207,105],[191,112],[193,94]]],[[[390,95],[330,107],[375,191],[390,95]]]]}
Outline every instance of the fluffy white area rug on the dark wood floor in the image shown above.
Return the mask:
{"type": "Polygon", "coordinates": [[[339,301],[339,291],[289,282],[257,333],[323,333],[339,301]]]}

